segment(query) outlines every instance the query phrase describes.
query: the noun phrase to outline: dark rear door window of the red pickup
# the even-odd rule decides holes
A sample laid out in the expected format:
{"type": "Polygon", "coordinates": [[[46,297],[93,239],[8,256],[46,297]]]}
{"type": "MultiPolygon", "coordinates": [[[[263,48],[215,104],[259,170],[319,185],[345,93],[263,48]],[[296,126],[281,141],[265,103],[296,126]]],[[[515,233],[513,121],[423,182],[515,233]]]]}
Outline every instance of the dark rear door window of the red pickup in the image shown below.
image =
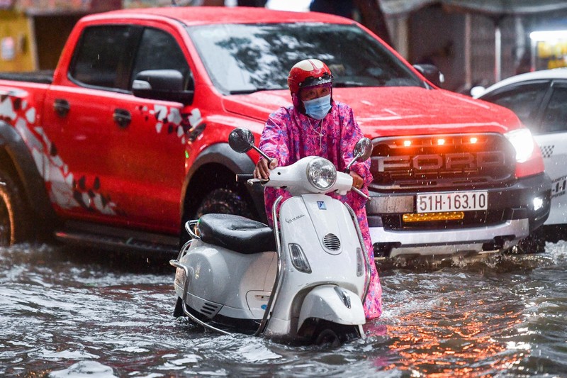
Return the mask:
{"type": "Polygon", "coordinates": [[[85,28],[74,52],[70,77],[78,84],[108,89],[128,89],[130,62],[136,35],[132,26],[85,28]]]}

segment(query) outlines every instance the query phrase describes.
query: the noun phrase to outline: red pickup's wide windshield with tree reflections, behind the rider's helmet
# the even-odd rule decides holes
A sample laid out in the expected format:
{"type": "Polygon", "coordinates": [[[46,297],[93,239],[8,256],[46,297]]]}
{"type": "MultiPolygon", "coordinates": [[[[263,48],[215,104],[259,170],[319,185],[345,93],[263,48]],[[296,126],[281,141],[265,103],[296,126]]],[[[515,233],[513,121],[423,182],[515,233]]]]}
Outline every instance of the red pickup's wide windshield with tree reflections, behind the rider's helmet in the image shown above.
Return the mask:
{"type": "Polygon", "coordinates": [[[187,30],[210,79],[225,94],[287,89],[289,70],[308,57],[329,66],[334,87],[425,87],[356,25],[219,24],[187,30]]]}

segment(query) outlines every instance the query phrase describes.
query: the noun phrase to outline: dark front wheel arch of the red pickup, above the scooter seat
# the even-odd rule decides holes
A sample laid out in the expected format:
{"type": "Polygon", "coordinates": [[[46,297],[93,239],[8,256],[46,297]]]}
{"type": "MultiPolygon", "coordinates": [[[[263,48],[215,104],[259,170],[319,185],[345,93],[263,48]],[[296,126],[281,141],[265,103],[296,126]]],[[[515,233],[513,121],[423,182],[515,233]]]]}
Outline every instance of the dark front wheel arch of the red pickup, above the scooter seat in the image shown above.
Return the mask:
{"type": "MultiPolygon", "coordinates": [[[[183,190],[181,191],[181,221],[188,216],[203,198],[203,189],[216,189],[225,184],[236,187],[235,174],[252,173],[256,165],[246,154],[233,151],[228,143],[216,143],[203,150],[191,165],[187,172],[183,190]],[[196,193],[192,196],[191,193],[196,193]],[[192,199],[197,199],[192,201],[192,199]]],[[[238,184],[239,188],[245,188],[245,194],[252,201],[252,213],[258,216],[260,221],[266,221],[264,211],[263,189],[259,185],[249,187],[238,184]]],[[[183,228],[184,225],[181,225],[183,228]]]]}

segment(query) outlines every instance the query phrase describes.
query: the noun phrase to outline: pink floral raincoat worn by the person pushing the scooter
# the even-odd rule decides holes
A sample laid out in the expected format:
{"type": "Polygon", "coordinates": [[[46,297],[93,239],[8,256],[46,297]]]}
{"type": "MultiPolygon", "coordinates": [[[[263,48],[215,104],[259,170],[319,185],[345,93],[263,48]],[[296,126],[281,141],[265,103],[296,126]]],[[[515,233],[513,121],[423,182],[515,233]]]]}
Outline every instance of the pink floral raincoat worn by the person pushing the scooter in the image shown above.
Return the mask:
{"type": "MultiPolygon", "coordinates": [[[[289,106],[282,107],[269,116],[259,148],[278,160],[280,167],[291,165],[302,157],[316,155],[330,160],[337,170],[342,172],[353,158],[354,145],[363,136],[357,121],[354,120],[352,109],[346,104],[333,101],[330,112],[322,121],[305,116],[293,106],[289,106]]],[[[357,162],[352,165],[351,170],[364,179],[362,191],[368,194],[367,185],[372,182],[370,162],[357,162]]],[[[370,288],[364,303],[364,312],[366,318],[378,318],[382,313],[382,287],[374,264],[374,252],[364,209],[366,199],[354,191],[349,191],[346,196],[335,193],[328,195],[347,202],[357,214],[371,261],[370,288]]],[[[291,195],[285,189],[264,189],[266,214],[271,225],[271,207],[279,196],[288,199],[291,195]]]]}

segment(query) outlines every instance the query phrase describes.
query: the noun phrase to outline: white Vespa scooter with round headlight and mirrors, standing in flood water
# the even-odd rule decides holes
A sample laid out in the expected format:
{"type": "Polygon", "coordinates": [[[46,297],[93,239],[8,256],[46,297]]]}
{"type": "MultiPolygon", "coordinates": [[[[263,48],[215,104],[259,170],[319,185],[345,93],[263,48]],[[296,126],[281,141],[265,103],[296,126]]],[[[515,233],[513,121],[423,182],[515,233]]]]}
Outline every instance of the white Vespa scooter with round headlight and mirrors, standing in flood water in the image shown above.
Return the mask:
{"type": "MultiPolygon", "coordinates": [[[[254,148],[270,159],[249,130],[233,130],[229,143],[237,152],[254,148]]],[[[359,140],[353,162],[368,159],[371,150],[368,138],[359,140]]],[[[248,183],[285,187],[292,197],[279,211],[282,197],[276,200],[273,230],[230,214],[186,223],[192,239],[170,261],[176,267],[174,316],[220,333],[285,342],[338,345],[364,337],[369,257],[354,211],[325,195],[357,190],[352,177],[310,156],[276,167],[269,180],[248,183]]]]}

